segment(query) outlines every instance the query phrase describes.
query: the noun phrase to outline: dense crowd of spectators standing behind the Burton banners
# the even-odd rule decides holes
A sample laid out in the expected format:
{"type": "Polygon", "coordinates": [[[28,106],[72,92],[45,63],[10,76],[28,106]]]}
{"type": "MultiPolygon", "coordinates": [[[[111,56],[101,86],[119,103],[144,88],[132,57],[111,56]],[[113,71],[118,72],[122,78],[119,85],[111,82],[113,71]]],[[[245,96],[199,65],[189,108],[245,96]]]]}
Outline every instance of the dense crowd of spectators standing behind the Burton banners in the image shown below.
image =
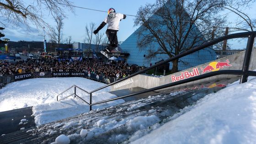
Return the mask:
{"type": "Polygon", "coordinates": [[[115,61],[112,62],[95,62],[95,61],[58,61],[53,58],[28,59],[14,63],[1,62],[0,76],[13,75],[27,72],[41,71],[78,71],[104,75],[109,77],[122,78],[134,72],[144,69],[137,65],[128,65],[127,63],[115,61]]]}

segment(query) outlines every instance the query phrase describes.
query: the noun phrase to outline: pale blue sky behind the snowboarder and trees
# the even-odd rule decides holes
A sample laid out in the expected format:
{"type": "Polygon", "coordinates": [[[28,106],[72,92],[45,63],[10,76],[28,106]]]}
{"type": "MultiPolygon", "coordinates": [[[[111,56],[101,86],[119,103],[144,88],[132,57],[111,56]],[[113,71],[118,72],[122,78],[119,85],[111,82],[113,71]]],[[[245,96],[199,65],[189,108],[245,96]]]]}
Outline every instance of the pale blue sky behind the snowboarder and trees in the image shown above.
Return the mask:
{"type": "MultiPolygon", "coordinates": [[[[27,0],[31,2],[30,0],[27,0]]],[[[107,11],[109,8],[114,8],[116,12],[127,14],[127,15],[136,15],[139,7],[145,5],[146,3],[154,3],[155,0],[71,0],[73,5],[96,9],[100,11],[107,11]]],[[[252,5],[251,7],[255,7],[252,5]]],[[[85,26],[90,24],[90,22],[96,23],[98,27],[104,18],[107,16],[107,13],[100,11],[91,11],[80,8],[75,8],[75,14],[66,11],[67,18],[64,19],[64,29],[63,29],[63,39],[66,39],[69,36],[72,36],[72,41],[74,42],[84,42],[85,38],[85,26]]],[[[254,8],[251,10],[245,10],[245,12],[250,13],[251,18],[256,19],[256,11],[254,8]],[[253,11],[252,11],[253,10],[253,11]]],[[[227,13],[227,12],[224,12],[227,13]]],[[[138,27],[133,27],[134,25],[134,16],[127,16],[127,18],[120,22],[120,30],[117,33],[118,41],[124,41],[128,38],[138,27]]],[[[229,14],[229,21],[235,22],[237,17],[229,14]]],[[[45,21],[50,25],[55,26],[53,17],[45,14],[45,21]],[[49,17],[48,17],[49,16],[49,17]]],[[[101,29],[100,32],[105,33],[107,26],[101,29]]],[[[5,27],[5,30],[2,31],[5,34],[4,38],[9,38],[11,41],[43,41],[43,29],[37,30],[32,27],[30,30],[27,30],[27,27],[5,27]]],[[[49,37],[46,37],[46,40],[49,40],[49,37]]],[[[232,42],[233,43],[233,42],[232,42]]],[[[232,47],[245,47],[245,41],[232,44],[232,47]]],[[[237,49],[234,48],[234,49],[237,49]]]]}

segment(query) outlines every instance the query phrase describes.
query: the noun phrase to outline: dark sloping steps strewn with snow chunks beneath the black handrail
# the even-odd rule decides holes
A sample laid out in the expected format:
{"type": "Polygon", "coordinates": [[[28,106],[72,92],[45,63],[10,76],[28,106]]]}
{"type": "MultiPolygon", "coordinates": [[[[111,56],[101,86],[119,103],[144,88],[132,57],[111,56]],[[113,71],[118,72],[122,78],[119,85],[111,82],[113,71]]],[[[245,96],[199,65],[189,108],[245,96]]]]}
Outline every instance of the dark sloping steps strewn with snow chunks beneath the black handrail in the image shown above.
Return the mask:
{"type": "MultiPolygon", "coordinates": [[[[231,80],[231,79],[230,79],[231,80]]],[[[0,144],[49,144],[59,136],[71,144],[129,143],[164,123],[209,93],[219,91],[226,80],[165,91],[101,110],[0,136],[0,144]],[[62,135],[64,134],[64,135],[62,135]]],[[[182,113],[182,112],[181,112],[182,113]]],[[[60,137],[59,137],[60,138],[60,137]]]]}

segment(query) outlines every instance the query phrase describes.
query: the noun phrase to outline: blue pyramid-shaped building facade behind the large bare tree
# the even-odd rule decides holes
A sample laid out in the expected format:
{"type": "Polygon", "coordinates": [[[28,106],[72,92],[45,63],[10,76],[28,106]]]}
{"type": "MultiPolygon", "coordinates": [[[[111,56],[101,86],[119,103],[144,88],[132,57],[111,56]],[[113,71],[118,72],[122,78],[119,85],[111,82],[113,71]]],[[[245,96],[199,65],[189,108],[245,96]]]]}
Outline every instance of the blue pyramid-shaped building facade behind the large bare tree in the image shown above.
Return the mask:
{"type": "MultiPolygon", "coordinates": [[[[170,7],[171,7],[171,5],[170,5],[170,7]]],[[[186,16],[188,16],[188,15],[186,15],[186,16]]],[[[153,17],[152,19],[159,20],[159,17],[157,17],[155,15],[152,15],[151,17],[153,17]]],[[[195,28],[193,28],[191,35],[193,35],[193,34],[200,35],[201,32],[199,31],[197,26],[194,25],[193,27],[195,27],[195,28]]],[[[157,63],[161,60],[169,59],[170,57],[167,54],[158,54],[154,58],[151,58],[151,59],[147,58],[147,56],[149,55],[149,49],[151,51],[152,51],[152,49],[157,51],[157,49],[160,46],[157,42],[152,42],[152,43],[150,43],[150,46],[149,46],[150,48],[139,49],[138,40],[141,38],[141,37],[139,37],[139,32],[141,33],[140,29],[145,29],[145,27],[140,26],[135,32],[133,32],[132,35],[130,35],[120,45],[120,47],[123,49],[123,53],[129,53],[129,56],[127,58],[125,58],[126,61],[128,62],[128,64],[138,64],[139,66],[149,67],[151,64],[154,65],[155,63],[157,63]]],[[[162,25],[158,29],[165,31],[167,28],[163,27],[163,25],[162,25]]],[[[147,35],[146,31],[143,31],[143,32],[145,32],[145,34],[142,34],[142,36],[147,35]]],[[[198,40],[198,42],[195,44],[197,46],[201,45],[202,43],[205,42],[205,38],[203,36],[200,36],[198,38],[200,40],[198,40]]],[[[186,41],[187,45],[191,44],[192,41],[193,41],[192,38],[187,38],[187,41],[186,41]]],[[[184,47],[186,47],[186,45],[184,47]]],[[[203,50],[200,50],[198,52],[192,53],[190,55],[187,55],[187,56],[179,59],[178,70],[184,70],[184,69],[188,69],[188,68],[197,66],[199,64],[205,64],[205,63],[213,61],[215,59],[216,59],[215,51],[212,48],[205,48],[203,50]]],[[[172,63],[170,63],[170,69],[171,68],[172,68],[172,63]]]]}

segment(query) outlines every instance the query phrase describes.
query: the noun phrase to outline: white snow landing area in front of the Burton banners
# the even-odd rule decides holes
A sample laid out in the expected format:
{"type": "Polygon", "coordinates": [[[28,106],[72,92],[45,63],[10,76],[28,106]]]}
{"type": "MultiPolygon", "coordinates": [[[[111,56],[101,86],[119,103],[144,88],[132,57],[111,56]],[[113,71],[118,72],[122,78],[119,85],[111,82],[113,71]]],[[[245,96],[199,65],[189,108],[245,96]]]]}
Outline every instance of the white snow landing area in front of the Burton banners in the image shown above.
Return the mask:
{"type": "MultiPolygon", "coordinates": [[[[77,85],[85,91],[92,91],[105,84],[85,78],[38,78],[12,82],[0,90],[0,112],[22,107],[33,106],[33,115],[37,125],[53,122],[65,117],[88,112],[89,106],[83,101],[69,97],[56,101],[56,96],[72,85],[77,85]]],[[[116,97],[108,93],[109,88],[93,93],[93,102],[116,97]]],[[[68,91],[64,96],[73,93],[68,91]]],[[[89,101],[89,96],[77,90],[78,96],[89,101]]],[[[123,100],[111,101],[96,105],[93,109],[109,107],[123,100]]]]}

